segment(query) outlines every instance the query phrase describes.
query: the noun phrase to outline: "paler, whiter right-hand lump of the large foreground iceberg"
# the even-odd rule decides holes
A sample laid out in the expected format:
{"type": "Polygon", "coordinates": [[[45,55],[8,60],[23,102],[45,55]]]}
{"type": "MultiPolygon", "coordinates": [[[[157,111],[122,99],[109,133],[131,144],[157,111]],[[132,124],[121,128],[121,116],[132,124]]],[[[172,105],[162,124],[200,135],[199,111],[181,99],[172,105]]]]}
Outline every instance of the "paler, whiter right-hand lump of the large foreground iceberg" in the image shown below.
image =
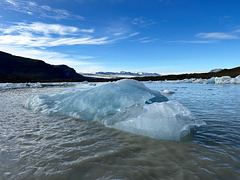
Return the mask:
{"type": "Polygon", "coordinates": [[[142,107],[133,106],[125,113],[118,114],[118,121],[108,126],[154,139],[179,141],[190,133],[191,127],[205,124],[196,121],[192,113],[177,101],[153,103],[142,107]],[[133,114],[136,108],[138,113],[133,114]]]}

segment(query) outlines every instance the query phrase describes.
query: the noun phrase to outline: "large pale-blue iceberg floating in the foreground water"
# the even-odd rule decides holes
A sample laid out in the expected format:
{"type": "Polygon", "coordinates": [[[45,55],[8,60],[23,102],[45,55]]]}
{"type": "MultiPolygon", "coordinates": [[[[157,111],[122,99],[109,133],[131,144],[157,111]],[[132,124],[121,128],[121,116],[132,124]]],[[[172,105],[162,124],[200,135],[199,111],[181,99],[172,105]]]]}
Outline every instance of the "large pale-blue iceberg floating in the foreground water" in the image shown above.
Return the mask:
{"type": "Polygon", "coordinates": [[[37,95],[26,107],[49,115],[66,115],[155,139],[180,140],[192,126],[203,125],[176,101],[135,80],[120,80],[89,90],[37,95]]]}

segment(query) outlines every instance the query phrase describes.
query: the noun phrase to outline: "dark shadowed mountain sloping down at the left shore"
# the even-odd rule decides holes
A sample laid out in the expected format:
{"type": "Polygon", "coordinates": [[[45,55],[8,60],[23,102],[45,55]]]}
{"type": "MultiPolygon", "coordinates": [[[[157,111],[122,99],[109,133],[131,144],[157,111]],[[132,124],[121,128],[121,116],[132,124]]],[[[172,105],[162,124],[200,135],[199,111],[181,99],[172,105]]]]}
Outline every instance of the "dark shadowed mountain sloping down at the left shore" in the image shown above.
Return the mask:
{"type": "Polygon", "coordinates": [[[69,80],[86,79],[66,65],[50,65],[41,60],[34,60],[0,51],[0,80],[69,80]]]}

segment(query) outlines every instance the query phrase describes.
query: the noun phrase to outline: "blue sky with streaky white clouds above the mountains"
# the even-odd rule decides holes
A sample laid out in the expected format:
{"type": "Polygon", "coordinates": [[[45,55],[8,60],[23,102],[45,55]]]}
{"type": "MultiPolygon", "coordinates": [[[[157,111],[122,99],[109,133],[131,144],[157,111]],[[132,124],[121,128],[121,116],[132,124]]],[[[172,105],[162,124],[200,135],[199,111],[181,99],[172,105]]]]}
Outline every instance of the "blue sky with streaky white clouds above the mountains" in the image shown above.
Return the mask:
{"type": "Polygon", "coordinates": [[[240,66],[239,0],[1,0],[0,50],[77,72],[240,66]]]}

